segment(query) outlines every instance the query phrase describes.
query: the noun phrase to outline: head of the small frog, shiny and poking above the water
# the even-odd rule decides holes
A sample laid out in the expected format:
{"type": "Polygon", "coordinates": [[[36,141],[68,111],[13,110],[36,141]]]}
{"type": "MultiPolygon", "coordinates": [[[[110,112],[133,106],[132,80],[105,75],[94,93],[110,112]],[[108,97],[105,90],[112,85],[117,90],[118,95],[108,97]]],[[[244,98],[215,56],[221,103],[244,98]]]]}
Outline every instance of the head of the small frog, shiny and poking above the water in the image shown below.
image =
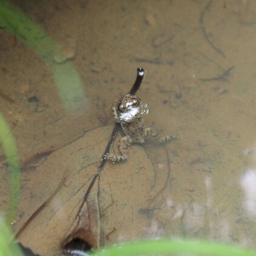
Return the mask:
{"type": "Polygon", "coordinates": [[[147,104],[142,104],[140,98],[130,94],[116,101],[112,110],[116,123],[131,123],[144,113],[149,113],[147,104]]]}

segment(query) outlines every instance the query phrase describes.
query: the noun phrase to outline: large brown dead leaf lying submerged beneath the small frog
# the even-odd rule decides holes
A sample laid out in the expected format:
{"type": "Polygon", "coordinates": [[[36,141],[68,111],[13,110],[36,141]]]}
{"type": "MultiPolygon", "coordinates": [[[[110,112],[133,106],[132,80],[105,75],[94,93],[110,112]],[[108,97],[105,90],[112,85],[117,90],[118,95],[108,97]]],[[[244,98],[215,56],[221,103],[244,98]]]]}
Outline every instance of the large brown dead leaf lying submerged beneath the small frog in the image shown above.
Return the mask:
{"type": "MultiPolygon", "coordinates": [[[[95,248],[105,242],[144,237],[149,215],[143,213],[148,209],[158,211],[152,198],[161,188],[156,186],[155,169],[144,146],[130,146],[124,163],[107,161],[89,197],[83,201],[112,128],[86,132],[51,153],[33,172],[23,173],[19,214],[24,216],[17,221],[16,231],[47,201],[19,235],[24,246],[36,254],[50,256],[60,254],[62,245],[73,238],[86,240],[95,248]],[[61,180],[64,183],[58,187],[61,180]]],[[[119,139],[120,135],[116,142],[119,139]]],[[[118,152],[116,144],[111,150],[118,152]]],[[[161,159],[166,157],[161,152],[160,155],[161,159]]],[[[166,162],[159,163],[166,166],[166,162]]],[[[166,173],[164,177],[168,178],[166,173]]]]}

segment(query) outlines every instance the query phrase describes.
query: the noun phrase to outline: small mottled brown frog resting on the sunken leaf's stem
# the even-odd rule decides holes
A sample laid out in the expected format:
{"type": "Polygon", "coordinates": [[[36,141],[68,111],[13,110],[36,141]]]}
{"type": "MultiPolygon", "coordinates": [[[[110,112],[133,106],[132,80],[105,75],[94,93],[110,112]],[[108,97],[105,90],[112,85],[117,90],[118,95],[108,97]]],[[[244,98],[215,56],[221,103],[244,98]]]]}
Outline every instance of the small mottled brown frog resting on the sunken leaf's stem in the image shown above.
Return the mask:
{"type": "Polygon", "coordinates": [[[121,155],[106,154],[103,156],[104,159],[113,163],[126,160],[128,157],[127,147],[133,143],[144,143],[146,136],[152,135],[160,143],[165,143],[178,136],[178,133],[176,133],[174,136],[160,137],[157,130],[152,127],[145,128],[142,115],[149,113],[149,107],[147,104],[143,104],[140,98],[129,93],[116,101],[112,111],[116,123],[121,124],[125,135],[118,143],[121,155]]]}

